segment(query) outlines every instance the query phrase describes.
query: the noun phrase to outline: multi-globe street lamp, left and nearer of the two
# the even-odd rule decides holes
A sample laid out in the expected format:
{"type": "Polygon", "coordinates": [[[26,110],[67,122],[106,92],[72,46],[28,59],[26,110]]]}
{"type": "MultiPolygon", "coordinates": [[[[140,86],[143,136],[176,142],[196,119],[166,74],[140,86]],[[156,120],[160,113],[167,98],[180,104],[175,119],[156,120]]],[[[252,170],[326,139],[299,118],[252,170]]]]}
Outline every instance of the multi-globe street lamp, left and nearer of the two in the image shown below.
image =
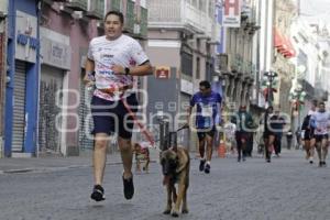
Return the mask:
{"type": "Polygon", "coordinates": [[[265,100],[268,103],[268,107],[272,106],[272,101],[274,100],[273,92],[276,91],[274,88],[276,86],[278,74],[276,72],[265,72],[263,76],[263,91],[265,96],[265,100]]]}

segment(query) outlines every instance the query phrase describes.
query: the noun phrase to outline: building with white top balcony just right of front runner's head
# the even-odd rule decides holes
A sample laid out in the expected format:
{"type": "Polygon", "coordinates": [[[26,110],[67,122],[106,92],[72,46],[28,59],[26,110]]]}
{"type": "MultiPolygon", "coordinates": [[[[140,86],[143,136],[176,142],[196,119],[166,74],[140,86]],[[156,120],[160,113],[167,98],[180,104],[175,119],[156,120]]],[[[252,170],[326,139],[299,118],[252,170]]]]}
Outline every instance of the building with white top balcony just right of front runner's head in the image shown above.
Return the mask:
{"type": "MultiPolygon", "coordinates": [[[[147,114],[168,113],[174,129],[186,122],[189,99],[198,90],[199,81],[212,81],[218,75],[215,72],[215,45],[220,38],[217,1],[148,0],[146,3],[150,11],[146,52],[156,66],[156,75],[148,80],[147,94],[158,96],[160,90],[150,84],[161,86],[168,84],[166,80],[176,81],[167,89],[178,94],[163,92],[157,98],[151,97],[153,102],[148,102],[147,114]],[[157,74],[162,72],[164,74],[157,74]],[[164,102],[162,98],[165,96],[167,101],[164,102]]],[[[187,135],[188,132],[183,140],[189,140],[187,135]]]]}

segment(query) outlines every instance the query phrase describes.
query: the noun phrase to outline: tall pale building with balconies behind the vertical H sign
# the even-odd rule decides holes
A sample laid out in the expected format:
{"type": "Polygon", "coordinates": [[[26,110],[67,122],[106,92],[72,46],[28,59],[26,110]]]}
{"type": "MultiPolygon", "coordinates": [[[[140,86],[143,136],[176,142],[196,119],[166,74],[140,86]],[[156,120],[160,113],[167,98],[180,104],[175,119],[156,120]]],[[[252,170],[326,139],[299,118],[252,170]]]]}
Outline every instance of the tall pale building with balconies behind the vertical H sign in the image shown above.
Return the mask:
{"type": "MultiPolygon", "coordinates": [[[[223,78],[223,96],[229,111],[237,111],[241,105],[250,110],[254,107],[253,87],[257,77],[257,30],[258,21],[258,1],[234,1],[240,7],[239,25],[223,23],[221,31],[221,43],[218,46],[219,69],[223,78]],[[251,108],[250,108],[251,106],[251,108]]],[[[224,18],[232,4],[230,1],[222,1],[220,7],[220,18],[224,18]]]]}

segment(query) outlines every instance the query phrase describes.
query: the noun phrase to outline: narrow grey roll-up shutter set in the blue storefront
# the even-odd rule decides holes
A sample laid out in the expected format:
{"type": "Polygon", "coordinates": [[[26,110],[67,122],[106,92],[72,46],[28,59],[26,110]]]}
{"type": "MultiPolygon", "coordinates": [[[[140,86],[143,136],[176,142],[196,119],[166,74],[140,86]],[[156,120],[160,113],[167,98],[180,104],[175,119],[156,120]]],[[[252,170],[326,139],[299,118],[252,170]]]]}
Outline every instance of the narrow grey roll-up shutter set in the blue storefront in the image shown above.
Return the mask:
{"type": "Polygon", "coordinates": [[[25,128],[25,89],[26,89],[25,62],[15,61],[14,88],[13,88],[13,130],[12,152],[22,152],[25,128]]]}

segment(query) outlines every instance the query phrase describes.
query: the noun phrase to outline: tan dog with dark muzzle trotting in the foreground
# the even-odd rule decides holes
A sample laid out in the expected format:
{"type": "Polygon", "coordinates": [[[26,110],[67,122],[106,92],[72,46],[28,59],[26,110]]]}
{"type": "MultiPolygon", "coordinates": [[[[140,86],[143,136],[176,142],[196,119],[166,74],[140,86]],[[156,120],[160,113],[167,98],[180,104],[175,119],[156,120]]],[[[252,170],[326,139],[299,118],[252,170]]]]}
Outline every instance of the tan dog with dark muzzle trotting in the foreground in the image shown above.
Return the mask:
{"type": "Polygon", "coordinates": [[[178,217],[183,202],[183,213],[188,213],[187,189],[189,186],[190,158],[188,151],[183,147],[170,147],[161,153],[161,164],[164,175],[163,184],[167,189],[167,205],[163,213],[178,217]],[[176,194],[175,184],[178,185],[176,194]],[[174,209],[172,206],[174,202],[174,209]]]}

